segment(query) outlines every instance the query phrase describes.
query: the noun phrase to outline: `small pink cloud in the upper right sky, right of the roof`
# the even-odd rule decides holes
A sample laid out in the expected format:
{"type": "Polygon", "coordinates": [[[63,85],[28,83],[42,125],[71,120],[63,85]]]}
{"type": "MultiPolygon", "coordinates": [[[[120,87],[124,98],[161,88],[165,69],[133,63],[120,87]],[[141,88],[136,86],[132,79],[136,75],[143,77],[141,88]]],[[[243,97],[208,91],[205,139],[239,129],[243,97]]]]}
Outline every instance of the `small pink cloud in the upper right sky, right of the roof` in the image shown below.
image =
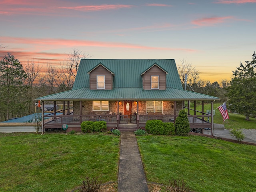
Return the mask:
{"type": "Polygon", "coordinates": [[[233,17],[227,16],[227,17],[201,18],[201,19],[193,20],[192,24],[198,25],[198,26],[213,26],[214,24],[227,22],[227,20],[230,20],[230,19],[233,19],[233,17]]]}

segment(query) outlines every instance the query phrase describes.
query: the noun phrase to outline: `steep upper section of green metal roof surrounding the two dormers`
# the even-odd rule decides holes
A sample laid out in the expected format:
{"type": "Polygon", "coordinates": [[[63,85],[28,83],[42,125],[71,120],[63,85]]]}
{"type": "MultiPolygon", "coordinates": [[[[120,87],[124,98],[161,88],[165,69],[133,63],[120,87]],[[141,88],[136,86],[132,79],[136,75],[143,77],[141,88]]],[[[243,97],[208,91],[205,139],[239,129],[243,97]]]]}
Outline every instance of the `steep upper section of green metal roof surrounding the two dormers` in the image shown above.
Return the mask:
{"type": "Polygon", "coordinates": [[[154,64],[157,64],[164,71],[168,72],[166,74],[166,87],[182,89],[174,59],[81,59],[73,89],[89,88],[88,72],[100,63],[115,74],[115,88],[142,88],[140,75],[154,64]]]}

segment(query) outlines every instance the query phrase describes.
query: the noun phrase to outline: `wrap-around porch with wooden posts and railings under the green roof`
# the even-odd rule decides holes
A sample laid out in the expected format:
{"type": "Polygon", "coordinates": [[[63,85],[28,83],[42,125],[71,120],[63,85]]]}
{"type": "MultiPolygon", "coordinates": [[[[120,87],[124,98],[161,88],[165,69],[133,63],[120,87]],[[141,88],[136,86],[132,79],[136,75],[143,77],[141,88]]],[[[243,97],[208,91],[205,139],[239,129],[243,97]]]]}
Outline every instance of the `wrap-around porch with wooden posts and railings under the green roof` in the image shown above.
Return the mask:
{"type": "MultiPolygon", "coordinates": [[[[161,113],[144,110],[145,101],[140,100],[112,101],[107,111],[92,110],[91,106],[82,101],[74,102],[74,106],[70,106],[70,101],[63,101],[61,110],[56,110],[54,107],[54,111],[47,115],[42,110],[42,126],[44,130],[66,126],[67,132],[70,132],[71,130],[80,131],[80,124],[83,121],[106,121],[108,130],[111,128],[144,129],[148,120],[175,123],[179,110],[185,108],[192,131],[203,133],[204,128],[213,130],[213,112],[211,114],[204,112],[204,101],[200,110],[196,109],[196,100],[194,100],[194,108],[190,108],[190,101],[187,102],[186,107],[184,101],[163,101],[163,103],[161,113]]],[[[213,111],[213,101],[211,103],[213,111]]],[[[42,102],[42,108],[44,108],[44,102],[42,102]]]]}

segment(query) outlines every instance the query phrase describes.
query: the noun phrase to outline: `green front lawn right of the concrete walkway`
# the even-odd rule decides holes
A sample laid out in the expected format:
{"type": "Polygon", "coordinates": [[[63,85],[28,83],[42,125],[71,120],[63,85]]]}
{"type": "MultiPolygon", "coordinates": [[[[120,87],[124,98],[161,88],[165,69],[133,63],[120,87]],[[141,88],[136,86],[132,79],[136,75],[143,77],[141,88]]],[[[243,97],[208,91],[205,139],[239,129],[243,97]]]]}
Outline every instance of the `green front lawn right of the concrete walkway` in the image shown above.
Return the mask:
{"type": "Polygon", "coordinates": [[[255,192],[256,146],[201,136],[138,136],[149,182],[183,178],[196,192],[255,192]]]}

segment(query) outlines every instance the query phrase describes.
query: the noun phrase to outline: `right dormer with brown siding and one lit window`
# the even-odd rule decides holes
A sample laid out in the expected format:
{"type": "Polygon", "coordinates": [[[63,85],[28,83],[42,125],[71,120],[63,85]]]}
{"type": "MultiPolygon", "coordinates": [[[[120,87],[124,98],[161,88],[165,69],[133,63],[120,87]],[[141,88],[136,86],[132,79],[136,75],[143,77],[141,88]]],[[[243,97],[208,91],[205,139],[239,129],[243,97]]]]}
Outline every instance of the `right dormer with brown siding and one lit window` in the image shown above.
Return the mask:
{"type": "Polygon", "coordinates": [[[168,72],[154,63],[140,75],[144,90],[166,90],[166,74],[168,72]]]}

